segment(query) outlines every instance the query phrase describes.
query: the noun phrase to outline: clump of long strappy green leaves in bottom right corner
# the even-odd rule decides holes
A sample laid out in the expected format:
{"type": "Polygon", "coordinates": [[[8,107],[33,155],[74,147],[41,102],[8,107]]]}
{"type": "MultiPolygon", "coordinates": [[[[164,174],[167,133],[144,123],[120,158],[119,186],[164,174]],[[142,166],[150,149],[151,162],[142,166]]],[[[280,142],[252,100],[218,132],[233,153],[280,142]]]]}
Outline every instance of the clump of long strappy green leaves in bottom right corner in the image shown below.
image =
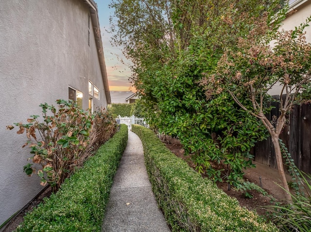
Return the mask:
{"type": "Polygon", "coordinates": [[[267,208],[271,220],[280,231],[310,232],[311,231],[311,175],[299,172],[301,178],[300,193],[291,194],[293,202],[267,208]]]}

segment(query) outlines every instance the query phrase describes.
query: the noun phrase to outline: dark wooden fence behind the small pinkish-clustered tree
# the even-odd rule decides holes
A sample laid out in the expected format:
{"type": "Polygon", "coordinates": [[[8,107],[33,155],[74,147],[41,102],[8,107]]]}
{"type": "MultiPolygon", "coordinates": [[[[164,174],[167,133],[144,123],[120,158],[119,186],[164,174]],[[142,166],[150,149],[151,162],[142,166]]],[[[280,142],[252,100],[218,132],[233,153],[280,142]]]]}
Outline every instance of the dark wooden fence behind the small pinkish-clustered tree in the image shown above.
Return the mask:
{"type": "MultiPolygon", "coordinates": [[[[278,95],[273,97],[279,100],[278,95]]],[[[269,114],[270,121],[274,115],[279,116],[279,103],[272,102],[271,105],[275,108],[269,114]]],[[[280,139],[286,144],[298,169],[311,173],[311,104],[295,105],[287,120],[280,139]]],[[[271,138],[257,142],[253,151],[256,162],[277,169],[271,138]]]]}

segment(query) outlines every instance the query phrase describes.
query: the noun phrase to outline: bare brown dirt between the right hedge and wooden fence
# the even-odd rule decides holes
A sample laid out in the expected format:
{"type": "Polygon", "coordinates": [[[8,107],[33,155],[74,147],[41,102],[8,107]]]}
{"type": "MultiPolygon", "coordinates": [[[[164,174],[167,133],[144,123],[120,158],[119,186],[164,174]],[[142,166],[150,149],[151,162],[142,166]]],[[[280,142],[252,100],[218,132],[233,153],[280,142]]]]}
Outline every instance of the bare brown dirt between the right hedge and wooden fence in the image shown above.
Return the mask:
{"type": "MultiPolygon", "coordinates": [[[[195,167],[190,160],[190,156],[184,155],[184,150],[178,140],[173,139],[172,141],[170,141],[170,143],[164,142],[164,144],[176,156],[186,160],[190,167],[195,167]]],[[[245,170],[245,180],[261,186],[269,195],[273,196],[277,201],[283,201],[285,199],[284,191],[281,187],[277,186],[277,184],[281,184],[278,171],[256,162],[253,163],[256,164],[256,168],[245,170]]],[[[287,178],[288,181],[291,180],[291,177],[289,175],[287,176],[287,178]]],[[[232,188],[228,191],[226,183],[217,183],[217,186],[223,189],[227,195],[235,197],[240,202],[241,206],[249,210],[255,210],[259,215],[266,215],[267,211],[264,206],[273,205],[273,203],[271,202],[271,198],[263,196],[257,191],[250,192],[254,196],[253,198],[246,198],[242,192],[236,191],[232,188]]]]}

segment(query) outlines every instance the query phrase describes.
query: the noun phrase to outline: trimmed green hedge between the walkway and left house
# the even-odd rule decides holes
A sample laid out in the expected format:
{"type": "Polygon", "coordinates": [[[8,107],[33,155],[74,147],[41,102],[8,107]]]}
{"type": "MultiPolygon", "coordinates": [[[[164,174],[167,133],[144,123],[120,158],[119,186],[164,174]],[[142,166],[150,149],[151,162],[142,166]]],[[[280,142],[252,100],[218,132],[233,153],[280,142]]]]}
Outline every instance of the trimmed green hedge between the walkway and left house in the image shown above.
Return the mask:
{"type": "Polygon", "coordinates": [[[120,130],[56,194],[24,217],[17,232],[100,232],[127,136],[127,126],[121,124],[120,130]]]}

